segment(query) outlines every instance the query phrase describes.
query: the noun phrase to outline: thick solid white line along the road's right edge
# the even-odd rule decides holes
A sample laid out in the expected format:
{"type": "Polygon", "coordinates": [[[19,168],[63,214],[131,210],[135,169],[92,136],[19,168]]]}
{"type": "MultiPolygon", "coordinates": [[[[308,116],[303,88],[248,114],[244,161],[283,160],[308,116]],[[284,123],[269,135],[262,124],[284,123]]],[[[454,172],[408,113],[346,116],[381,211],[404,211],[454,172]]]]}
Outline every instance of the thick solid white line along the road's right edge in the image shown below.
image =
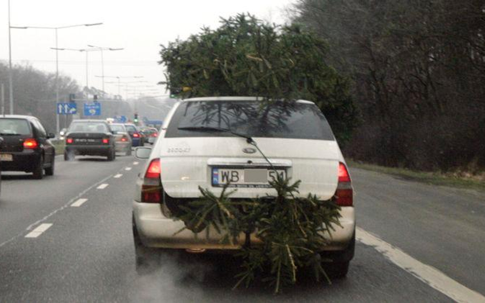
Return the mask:
{"type": "Polygon", "coordinates": [[[356,229],[356,238],[363,244],[374,247],[392,263],[453,300],[458,302],[485,302],[485,296],[480,293],[459,284],[436,268],[417,261],[401,249],[359,227],[356,229]]]}

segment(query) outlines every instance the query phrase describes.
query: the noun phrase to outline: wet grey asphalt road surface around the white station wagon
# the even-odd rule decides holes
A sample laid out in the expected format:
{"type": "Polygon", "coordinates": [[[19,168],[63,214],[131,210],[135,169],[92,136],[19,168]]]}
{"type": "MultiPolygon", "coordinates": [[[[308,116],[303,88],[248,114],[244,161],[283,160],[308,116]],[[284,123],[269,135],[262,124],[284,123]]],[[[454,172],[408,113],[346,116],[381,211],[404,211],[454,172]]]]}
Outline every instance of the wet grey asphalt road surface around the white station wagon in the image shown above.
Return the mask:
{"type": "Polygon", "coordinates": [[[0,302],[447,302],[456,285],[485,294],[485,194],[357,169],[361,242],[344,280],[304,278],[277,296],[261,285],[232,291],[232,263],[191,257],[167,257],[158,272],[139,277],[131,198],[143,163],[136,162],[57,157],[53,177],[3,174],[0,302]],[[372,237],[389,251],[371,246],[372,237]],[[453,281],[451,290],[440,289],[439,277],[421,270],[426,265],[453,281]]]}

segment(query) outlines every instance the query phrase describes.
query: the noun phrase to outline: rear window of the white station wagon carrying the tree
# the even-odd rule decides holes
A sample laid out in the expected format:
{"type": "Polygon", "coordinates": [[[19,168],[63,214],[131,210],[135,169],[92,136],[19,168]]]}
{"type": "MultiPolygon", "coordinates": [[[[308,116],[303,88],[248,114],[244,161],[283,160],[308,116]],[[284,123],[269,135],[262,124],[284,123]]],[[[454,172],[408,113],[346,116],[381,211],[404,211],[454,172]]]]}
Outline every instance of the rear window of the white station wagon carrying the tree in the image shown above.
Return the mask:
{"type": "Polygon", "coordinates": [[[191,101],[180,104],[165,137],[232,136],[218,131],[181,130],[215,127],[252,137],[335,140],[315,104],[258,101],[191,101]]]}

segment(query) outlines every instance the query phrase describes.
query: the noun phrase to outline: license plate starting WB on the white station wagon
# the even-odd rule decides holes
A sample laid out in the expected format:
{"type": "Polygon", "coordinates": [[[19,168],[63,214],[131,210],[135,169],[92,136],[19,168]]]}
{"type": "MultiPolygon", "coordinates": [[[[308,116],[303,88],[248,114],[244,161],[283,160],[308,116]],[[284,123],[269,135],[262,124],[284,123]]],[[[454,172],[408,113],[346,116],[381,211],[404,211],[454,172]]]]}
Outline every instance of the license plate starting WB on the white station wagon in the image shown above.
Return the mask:
{"type": "Polygon", "coordinates": [[[239,188],[269,188],[269,181],[275,180],[280,175],[286,178],[286,171],[283,169],[229,169],[212,168],[212,186],[224,187],[229,182],[229,187],[239,188]]]}

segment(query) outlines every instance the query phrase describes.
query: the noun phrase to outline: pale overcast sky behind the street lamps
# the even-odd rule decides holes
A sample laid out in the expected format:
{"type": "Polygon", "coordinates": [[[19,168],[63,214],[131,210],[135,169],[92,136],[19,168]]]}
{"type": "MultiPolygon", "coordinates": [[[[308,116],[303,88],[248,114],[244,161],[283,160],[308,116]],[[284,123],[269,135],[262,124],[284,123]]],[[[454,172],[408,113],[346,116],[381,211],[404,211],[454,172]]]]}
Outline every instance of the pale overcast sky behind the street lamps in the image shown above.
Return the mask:
{"type": "MultiPolygon", "coordinates": [[[[104,52],[105,76],[144,76],[154,85],[164,80],[159,44],[178,36],[198,33],[202,26],[216,28],[219,16],[250,12],[278,24],[284,22],[285,7],[295,0],[11,0],[12,26],[58,27],[103,22],[101,26],[58,31],[59,48],[83,49],[87,44],[123,51],[104,52]]],[[[7,0],[0,2],[0,60],[8,60],[7,0]]],[[[12,29],[12,62],[27,62],[42,71],[55,72],[55,32],[41,29],[12,29]]],[[[85,85],[85,53],[59,52],[59,71],[85,85]]],[[[101,88],[101,55],[89,53],[89,85],[101,88]]],[[[105,82],[117,81],[105,78],[105,82]]],[[[128,79],[122,81],[130,81],[128,79]]],[[[16,84],[17,85],[17,84],[16,84]]],[[[136,84],[132,84],[136,85],[136,84]]],[[[116,94],[116,84],[105,83],[116,94]]],[[[124,88],[122,88],[124,89],[124,88]]],[[[141,89],[141,88],[139,88],[141,89]]],[[[145,88],[146,89],[146,88],[145,88]]],[[[123,90],[121,91],[125,96],[123,90]]]]}

